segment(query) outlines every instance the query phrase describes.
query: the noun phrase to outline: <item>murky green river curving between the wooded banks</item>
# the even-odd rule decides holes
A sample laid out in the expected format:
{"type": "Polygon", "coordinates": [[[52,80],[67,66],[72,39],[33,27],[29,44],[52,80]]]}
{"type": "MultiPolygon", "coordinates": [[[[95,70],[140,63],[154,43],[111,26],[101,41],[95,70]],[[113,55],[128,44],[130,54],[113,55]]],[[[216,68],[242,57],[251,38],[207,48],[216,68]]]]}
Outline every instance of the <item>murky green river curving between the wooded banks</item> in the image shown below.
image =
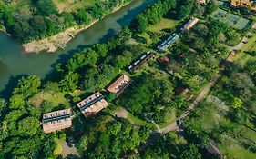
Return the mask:
{"type": "Polygon", "coordinates": [[[96,43],[103,43],[116,35],[124,25],[157,0],[134,0],[118,12],[106,16],[97,24],[77,35],[65,50],[56,53],[27,54],[14,38],[0,33],[0,96],[5,96],[13,89],[22,75],[38,75],[42,79],[54,68],[56,62],[66,60],[81,48],[96,43]]]}

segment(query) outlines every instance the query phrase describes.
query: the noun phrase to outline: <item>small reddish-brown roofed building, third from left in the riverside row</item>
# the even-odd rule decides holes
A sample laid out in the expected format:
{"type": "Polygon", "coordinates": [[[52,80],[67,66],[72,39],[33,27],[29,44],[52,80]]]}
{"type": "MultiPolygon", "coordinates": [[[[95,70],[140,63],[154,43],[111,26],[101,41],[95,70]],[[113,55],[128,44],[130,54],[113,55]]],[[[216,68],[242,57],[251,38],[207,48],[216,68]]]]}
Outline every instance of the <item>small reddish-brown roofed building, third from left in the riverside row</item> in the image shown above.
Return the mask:
{"type": "Polygon", "coordinates": [[[108,86],[107,90],[113,94],[122,94],[131,83],[132,80],[127,75],[121,75],[114,83],[108,86]]]}

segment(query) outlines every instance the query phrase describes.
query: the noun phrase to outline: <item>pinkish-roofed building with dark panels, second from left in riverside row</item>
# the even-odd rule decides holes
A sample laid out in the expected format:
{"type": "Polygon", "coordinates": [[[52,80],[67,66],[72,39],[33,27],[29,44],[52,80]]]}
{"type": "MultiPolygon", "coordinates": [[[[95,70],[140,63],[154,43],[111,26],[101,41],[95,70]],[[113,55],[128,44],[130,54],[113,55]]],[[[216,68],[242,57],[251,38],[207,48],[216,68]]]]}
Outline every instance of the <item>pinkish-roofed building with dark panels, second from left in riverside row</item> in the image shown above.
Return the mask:
{"type": "Polygon", "coordinates": [[[97,114],[99,111],[106,108],[107,106],[108,102],[99,92],[88,96],[86,99],[77,104],[77,107],[80,109],[81,113],[84,114],[85,117],[97,114]]]}

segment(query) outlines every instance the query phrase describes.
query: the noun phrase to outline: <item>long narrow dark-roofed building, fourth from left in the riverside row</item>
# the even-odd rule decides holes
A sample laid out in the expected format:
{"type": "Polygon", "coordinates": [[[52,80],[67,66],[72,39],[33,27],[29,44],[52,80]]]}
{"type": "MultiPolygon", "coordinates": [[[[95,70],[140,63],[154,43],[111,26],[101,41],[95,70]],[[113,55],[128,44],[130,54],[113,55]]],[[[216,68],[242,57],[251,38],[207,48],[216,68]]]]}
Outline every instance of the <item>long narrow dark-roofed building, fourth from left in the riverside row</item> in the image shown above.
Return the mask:
{"type": "Polygon", "coordinates": [[[151,52],[148,52],[147,54],[140,56],[132,65],[128,66],[128,71],[130,73],[138,71],[139,67],[147,63],[148,60],[151,59],[153,56],[154,54],[151,52]]]}

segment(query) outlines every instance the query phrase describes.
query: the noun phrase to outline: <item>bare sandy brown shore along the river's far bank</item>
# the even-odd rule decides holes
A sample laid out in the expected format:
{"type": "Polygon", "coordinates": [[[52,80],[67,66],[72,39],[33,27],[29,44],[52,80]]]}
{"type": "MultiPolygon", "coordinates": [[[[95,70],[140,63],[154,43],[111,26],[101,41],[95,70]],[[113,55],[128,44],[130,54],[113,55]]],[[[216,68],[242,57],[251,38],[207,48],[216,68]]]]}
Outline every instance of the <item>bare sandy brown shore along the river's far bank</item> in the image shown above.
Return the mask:
{"type": "MultiPolygon", "coordinates": [[[[131,2],[133,2],[133,1],[131,1],[131,2]]],[[[117,12],[119,9],[130,4],[131,2],[116,7],[108,15],[117,12]]],[[[107,15],[105,15],[105,16],[107,16],[107,15]]],[[[92,25],[95,25],[98,21],[99,21],[99,19],[93,21],[90,25],[72,26],[70,28],[67,28],[67,30],[65,30],[63,32],[58,33],[57,35],[46,37],[45,39],[41,39],[41,40],[34,40],[30,43],[23,44],[22,47],[26,53],[38,54],[41,51],[46,51],[47,53],[54,53],[59,48],[64,49],[66,47],[67,43],[69,41],[71,41],[78,33],[86,30],[87,28],[89,28],[92,25]]]]}

